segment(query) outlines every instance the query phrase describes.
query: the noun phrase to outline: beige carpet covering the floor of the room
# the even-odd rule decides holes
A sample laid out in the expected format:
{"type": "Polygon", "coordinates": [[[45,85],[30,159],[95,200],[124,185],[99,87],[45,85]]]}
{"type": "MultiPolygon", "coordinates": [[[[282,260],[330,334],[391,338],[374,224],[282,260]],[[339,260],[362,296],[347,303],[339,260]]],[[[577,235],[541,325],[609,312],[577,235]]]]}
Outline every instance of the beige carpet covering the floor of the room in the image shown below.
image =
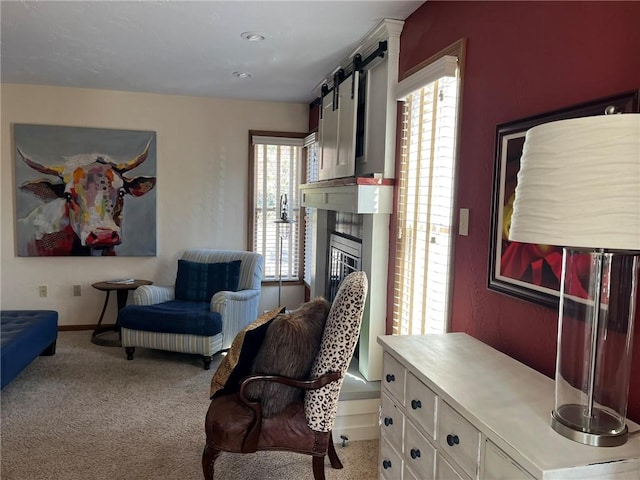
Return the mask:
{"type": "MultiPolygon", "coordinates": [[[[202,478],[209,383],[198,356],[100,347],[89,332],[60,332],[1,393],[3,480],[196,480],[202,478]]],[[[377,441],[337,447],[327,480],[377,478],[377,441]]],[[[222,454],[217,480],[313,478],[311,457],[222,454]]]]}

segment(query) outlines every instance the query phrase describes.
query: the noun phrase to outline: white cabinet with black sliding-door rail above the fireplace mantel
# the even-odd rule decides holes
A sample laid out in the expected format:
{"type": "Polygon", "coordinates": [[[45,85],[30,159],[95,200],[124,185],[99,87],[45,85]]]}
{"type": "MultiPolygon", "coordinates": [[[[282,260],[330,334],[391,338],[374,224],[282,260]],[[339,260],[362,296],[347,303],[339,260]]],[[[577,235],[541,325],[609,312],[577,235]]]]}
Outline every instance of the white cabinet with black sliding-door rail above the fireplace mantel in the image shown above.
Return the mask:
{"type": "Polygon", "coordinates": [[[395,177],[396,88],[403,25],[399,20],[383,20],[320,83],[320,180],[395,177]],[[360,63],[354,58],[360,58],[360,63]]]}

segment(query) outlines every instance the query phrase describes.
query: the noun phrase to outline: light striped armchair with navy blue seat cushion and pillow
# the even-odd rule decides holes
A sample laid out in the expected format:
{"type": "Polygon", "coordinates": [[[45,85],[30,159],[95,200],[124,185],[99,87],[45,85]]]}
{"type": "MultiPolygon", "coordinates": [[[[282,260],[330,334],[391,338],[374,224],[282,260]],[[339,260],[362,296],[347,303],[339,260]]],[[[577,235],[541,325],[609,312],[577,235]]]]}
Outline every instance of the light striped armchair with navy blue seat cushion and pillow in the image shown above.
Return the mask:
{"type": "Polygon", "coordinates": [[[144,285],[118,314],[122,346],[212,356],[258,317],[264,259],[239,250],[188,249],[172,286],[144,285]]]}

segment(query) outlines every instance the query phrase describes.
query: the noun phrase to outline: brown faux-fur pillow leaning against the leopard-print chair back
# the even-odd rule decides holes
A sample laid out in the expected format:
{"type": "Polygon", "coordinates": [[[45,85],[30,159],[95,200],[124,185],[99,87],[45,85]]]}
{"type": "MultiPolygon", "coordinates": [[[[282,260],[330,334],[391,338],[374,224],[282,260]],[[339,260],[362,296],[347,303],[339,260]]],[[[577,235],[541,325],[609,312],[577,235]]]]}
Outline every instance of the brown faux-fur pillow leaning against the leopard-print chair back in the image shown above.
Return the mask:
{"type": "MultiPolygon", "coordinates": [[[[330,307],[327,300],[318,297],[297,310],[278,315],[267,329],[251,372],[297,380],[309,378],[330,307]]],[[[272,417],[301,399],[304,391],[277,382],[253,382],[245,393],[253,400],[260,399],[262,415],[272,417]]]]}

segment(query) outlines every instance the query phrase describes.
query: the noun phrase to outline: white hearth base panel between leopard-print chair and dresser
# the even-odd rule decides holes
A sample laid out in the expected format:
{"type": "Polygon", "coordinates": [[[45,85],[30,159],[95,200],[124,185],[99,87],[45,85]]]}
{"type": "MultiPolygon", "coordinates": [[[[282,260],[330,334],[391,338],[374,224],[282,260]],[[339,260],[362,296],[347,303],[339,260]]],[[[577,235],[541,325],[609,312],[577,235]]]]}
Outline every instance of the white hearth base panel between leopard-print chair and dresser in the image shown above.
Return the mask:
{"type": "Polygon", "coordinates": [[[380,398],[338,402],[338,413],[333,424],[333,441],[342,443],[341,435],[349,441],[378,439],[379,409],[380,398]]]}

